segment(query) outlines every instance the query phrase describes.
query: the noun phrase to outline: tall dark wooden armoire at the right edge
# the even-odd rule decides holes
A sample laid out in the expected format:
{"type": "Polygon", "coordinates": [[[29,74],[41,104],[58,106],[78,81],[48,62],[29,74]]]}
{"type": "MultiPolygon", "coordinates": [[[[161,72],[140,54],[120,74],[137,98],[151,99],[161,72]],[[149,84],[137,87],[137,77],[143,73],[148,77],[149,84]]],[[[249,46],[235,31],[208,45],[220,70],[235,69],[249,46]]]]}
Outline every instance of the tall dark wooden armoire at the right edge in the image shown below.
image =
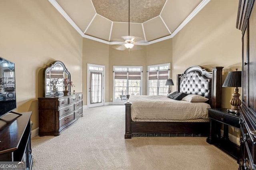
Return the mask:
{"type": "Polygon", "coordinates": [[[239,168],[256,169],[256,2],[239,0],[236,28],[242,31],[242,105],[239,168]]]}

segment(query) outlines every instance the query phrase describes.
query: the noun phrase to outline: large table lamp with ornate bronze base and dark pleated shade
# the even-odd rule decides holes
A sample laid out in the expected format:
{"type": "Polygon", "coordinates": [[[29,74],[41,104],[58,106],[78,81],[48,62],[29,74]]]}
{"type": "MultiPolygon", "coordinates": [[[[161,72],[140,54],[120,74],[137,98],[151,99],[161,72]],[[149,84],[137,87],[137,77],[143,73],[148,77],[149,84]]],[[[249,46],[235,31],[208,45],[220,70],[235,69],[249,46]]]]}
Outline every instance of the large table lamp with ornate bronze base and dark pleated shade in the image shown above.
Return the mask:
{"type": "Polygon", "coordinates": [[[238,93],[238,87],[242,86],[242,71],[231,71],[228,72],[228,75],[222,85],[222,87],[235,87],[234,93],[232,94],[233,98],[230,100],[231,109],[227,109],[228,112],[239,114],[239,106],[242,104],[239,99],[240,94],[238,93]]]}

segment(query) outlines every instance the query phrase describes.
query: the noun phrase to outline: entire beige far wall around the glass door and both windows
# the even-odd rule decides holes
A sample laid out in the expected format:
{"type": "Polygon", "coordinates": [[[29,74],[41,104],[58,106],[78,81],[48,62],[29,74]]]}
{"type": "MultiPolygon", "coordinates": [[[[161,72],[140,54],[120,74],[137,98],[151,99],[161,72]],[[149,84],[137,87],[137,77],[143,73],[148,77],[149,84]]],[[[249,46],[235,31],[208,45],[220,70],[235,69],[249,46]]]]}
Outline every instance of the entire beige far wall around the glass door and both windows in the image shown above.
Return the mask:
{"type": "MultiPolygon", "coordinates": [[[[87,63],[106,66],[105,102],[113,100],[113,66],[143,66],[142,94],[147,94],[147,66],[172,62],[172,39],[140,46],[138,50],[120,51],[116,45],[106,45],[90,39],[83,39],[83,95],[87,96],[87,63]]],[[[87,98],[83,98],[87,105],[87,98]]]]}

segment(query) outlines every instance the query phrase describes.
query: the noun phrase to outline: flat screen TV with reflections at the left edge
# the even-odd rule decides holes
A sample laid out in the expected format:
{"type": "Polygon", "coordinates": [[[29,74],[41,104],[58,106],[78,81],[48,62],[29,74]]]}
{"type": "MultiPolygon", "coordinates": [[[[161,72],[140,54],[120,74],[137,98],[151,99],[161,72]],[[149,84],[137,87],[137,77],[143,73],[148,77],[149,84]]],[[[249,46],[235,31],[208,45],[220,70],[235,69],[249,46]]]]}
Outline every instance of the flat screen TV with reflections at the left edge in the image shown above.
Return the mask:
{"type": "Polygon", "coordinates": [[[0,117],[16,109],[14,63],[0,57],[0,117]]]}

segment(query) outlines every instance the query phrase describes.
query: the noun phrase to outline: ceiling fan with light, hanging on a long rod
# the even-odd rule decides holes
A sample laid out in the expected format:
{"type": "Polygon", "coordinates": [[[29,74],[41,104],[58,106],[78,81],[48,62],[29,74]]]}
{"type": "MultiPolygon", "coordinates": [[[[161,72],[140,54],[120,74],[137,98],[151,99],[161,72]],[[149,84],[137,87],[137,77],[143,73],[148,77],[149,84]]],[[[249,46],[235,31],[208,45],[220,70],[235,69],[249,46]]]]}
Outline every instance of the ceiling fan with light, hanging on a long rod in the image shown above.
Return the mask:
{"type": "Polygon", "coordinates": [[[126,50],[128,49],[130,52],[130,49],[141,49],[140,47],[135,47],[134,45],[136,42],[143,41],[141,37],[135,37],[135,36],[130,36],[130,0],[129,0],[129,20],[128,20],[128,36],[123,36],[122,39],[124,39],[120,44],[121,45],[116,45],[114,46],[114,49],[117,50],[126,50]]]}

